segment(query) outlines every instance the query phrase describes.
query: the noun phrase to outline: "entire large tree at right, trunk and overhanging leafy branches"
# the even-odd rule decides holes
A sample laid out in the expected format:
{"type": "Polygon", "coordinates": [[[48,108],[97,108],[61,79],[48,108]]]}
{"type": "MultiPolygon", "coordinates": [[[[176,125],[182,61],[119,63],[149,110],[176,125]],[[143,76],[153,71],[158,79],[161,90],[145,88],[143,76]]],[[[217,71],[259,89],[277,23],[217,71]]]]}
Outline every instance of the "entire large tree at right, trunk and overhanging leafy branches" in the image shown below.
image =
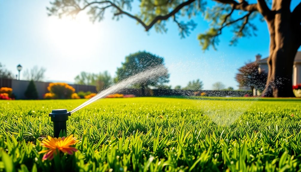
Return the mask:
{"type": "Polygon", "coordinates": [[[293,60],[301,45],[301,2],[291,8],[290,0],[140,0],[140,12],[131,14],[133,0],[53,0],[48,15],[75,17],[86,11],[90,19],[101,21],[110,9],[113,18],[127,16],[137,21],[145,31],[155,28],[166,32],[166,21],[172,20],[185,37],[196,27],[191,19],[202,14],[209,22],[209,29],[200,33],[198,39],[203,50],[210,46],[216,49],[219,35],[226,27],[232,27],[230,45],[237,44],[241,37],[256,35],[254,19],[265,21],[268,26],[270,44],[268,58],[268,79],[264,95],[292,97],[293,60]],[[272,2],[272,3],[271,3],[272,2]],[[279,41],[281,40],[281,41],[279,41]],[[281,81],[279,81],[281,80],[281,81]]]}

